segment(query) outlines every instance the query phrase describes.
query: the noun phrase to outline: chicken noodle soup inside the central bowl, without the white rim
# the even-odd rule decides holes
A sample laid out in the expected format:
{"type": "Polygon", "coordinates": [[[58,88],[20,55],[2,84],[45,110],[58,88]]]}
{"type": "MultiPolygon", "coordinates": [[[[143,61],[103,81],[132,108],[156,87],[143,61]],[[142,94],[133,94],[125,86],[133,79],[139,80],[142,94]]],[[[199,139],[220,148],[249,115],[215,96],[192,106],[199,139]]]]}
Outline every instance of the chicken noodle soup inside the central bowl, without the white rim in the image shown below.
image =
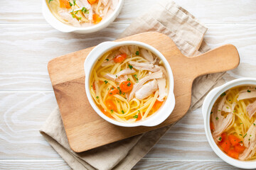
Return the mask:
{"type": "Polygon", "coordinates": [[[145,120],[168,94],[163,62],[149,50],[122,46],[103,55],[90,75],[90,92],[102,113],[124,122],[145,120]]]}

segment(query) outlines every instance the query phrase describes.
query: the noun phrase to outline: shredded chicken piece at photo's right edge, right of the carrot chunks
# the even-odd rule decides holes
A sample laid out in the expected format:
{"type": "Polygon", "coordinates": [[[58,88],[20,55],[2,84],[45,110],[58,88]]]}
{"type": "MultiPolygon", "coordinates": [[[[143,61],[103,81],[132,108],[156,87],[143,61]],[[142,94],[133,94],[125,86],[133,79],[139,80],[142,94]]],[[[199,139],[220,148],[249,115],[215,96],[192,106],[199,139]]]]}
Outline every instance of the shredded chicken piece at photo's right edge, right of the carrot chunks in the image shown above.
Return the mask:
{"type": "Polygon", "coordinates": [[[256,120],[250,126],[249,130],[247,130],[247,135],[244,138],[244,145],[247,147],[242,154],[239,155],[238,159],[246,160],[250,159],[256,152],[256,120]]]}

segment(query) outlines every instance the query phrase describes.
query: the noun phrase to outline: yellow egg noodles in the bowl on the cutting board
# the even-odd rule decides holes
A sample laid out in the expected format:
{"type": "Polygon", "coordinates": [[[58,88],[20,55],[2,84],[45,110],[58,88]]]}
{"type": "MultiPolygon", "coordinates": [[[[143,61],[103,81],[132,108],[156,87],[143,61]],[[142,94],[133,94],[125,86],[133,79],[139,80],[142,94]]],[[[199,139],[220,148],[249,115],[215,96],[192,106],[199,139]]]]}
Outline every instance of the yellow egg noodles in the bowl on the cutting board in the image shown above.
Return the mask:
{"type": "MultiPolygon", "coordinates": [[[[159,96],[159,90],[155,91],[154,94],[151,94],[142,100],[132,98],[130,101],[128,101],[127,93],[123,93],[121,90],[118,94],[114,94],[113,96],[109,95],[112,88],[119,89],[119,83],[110,79],[106,79],[104,75],[107,73],[117,74],[124,69],[129,69],[129,61],[145,63],[147,61],[144,59],[144,57],[137,55],[127,57],[121,63],[114,63],[102,67],[102,63],[107,60],[107,57],[112,55],[112,51],[105,53],[105,55],[103,55],[100,60],[98,60],[97,64],[95,64],[92,69],[92,73],[90,75],[90,93],[92,98],[103,113],[109,113],[109,117],[114,118],[115,120],[123,123],[134,123],[139,117],[142,118],[142,120],[145,120],[147,117],[154,113],[154,109],[152,109],[152,107],[156,102],[156,98],[159,96]],[[117,108],[116,111],[110,110],[110,108],[107,107],[105,103],[107,100],[113,101],[117,108]]],[[[140,79],[148,74],[151,74],[148,70],[135,71],[136,72],[133,74],[127,75],[129,81],[131,81],[132,84],[137,84],[140,79]]],[[[168,86],[168,81],[166,81],[166,86],[168,86]]]]}

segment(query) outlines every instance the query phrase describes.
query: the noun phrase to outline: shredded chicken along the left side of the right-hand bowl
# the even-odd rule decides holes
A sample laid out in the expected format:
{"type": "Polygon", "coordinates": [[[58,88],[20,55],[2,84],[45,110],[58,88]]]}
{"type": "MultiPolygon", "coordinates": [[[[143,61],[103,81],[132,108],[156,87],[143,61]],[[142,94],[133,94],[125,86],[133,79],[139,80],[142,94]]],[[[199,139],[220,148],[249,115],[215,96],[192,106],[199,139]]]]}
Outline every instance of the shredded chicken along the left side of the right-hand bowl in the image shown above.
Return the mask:
{"type": "Polygon", "coordinates": [[[233,111],[236,106],[236,103],[232,104],[231,112],[228,113],[228,115],[224,118],[223,115],[221,115],[221,111],[223,111],[223,106],[225,106],[225,100],[227,98],[227,95],[223,96],[220,102],[218,103],[218,107],[215,106],[212,113],[212,120],[213,125],[215,127],[215,130],[213,132],[213,139],[215,141],[218,141],[218,138],[220,135],[224,132],[225,129],[228,128],[230,123],[232,123],[233,120],[233,111]]]}

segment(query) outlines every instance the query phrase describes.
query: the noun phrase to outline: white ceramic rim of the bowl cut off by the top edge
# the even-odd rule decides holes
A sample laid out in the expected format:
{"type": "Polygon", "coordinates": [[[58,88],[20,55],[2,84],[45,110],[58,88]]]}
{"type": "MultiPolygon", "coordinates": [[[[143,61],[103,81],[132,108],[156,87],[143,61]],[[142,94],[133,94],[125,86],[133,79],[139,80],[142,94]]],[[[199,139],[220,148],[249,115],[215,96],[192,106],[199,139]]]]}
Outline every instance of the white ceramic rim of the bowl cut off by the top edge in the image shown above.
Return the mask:
{"type": "Polygon", "coordinates": [[[117,4],[117,8],[115,8],[114,11],[110,13],[110,16],[107,16],[107,18],[102,20],[100,23],[94,26],[89,26],[89,27],[69,26],[65,23],[58,21],[58,19],[55,18],[55,16],[53,16],[53,13],[50,12],[50,8],[48,8],[47,3],[48,2],[46,2],[46,0],[43,0],[43,6],[42,6],[43,17],[50,24],[50,26],[53,26],[53,28],[55,28],[56,30],[60,30],[61,32],[64,32],[64,33],[70,33],[70,32],[94,33],[98,30],[101,30],[102,28],[106,28],[107,26],[110,25],[110,23],[114,21],[115,18],[117,18],[124,4],[124,0],[119,0],[117,4]]]}

